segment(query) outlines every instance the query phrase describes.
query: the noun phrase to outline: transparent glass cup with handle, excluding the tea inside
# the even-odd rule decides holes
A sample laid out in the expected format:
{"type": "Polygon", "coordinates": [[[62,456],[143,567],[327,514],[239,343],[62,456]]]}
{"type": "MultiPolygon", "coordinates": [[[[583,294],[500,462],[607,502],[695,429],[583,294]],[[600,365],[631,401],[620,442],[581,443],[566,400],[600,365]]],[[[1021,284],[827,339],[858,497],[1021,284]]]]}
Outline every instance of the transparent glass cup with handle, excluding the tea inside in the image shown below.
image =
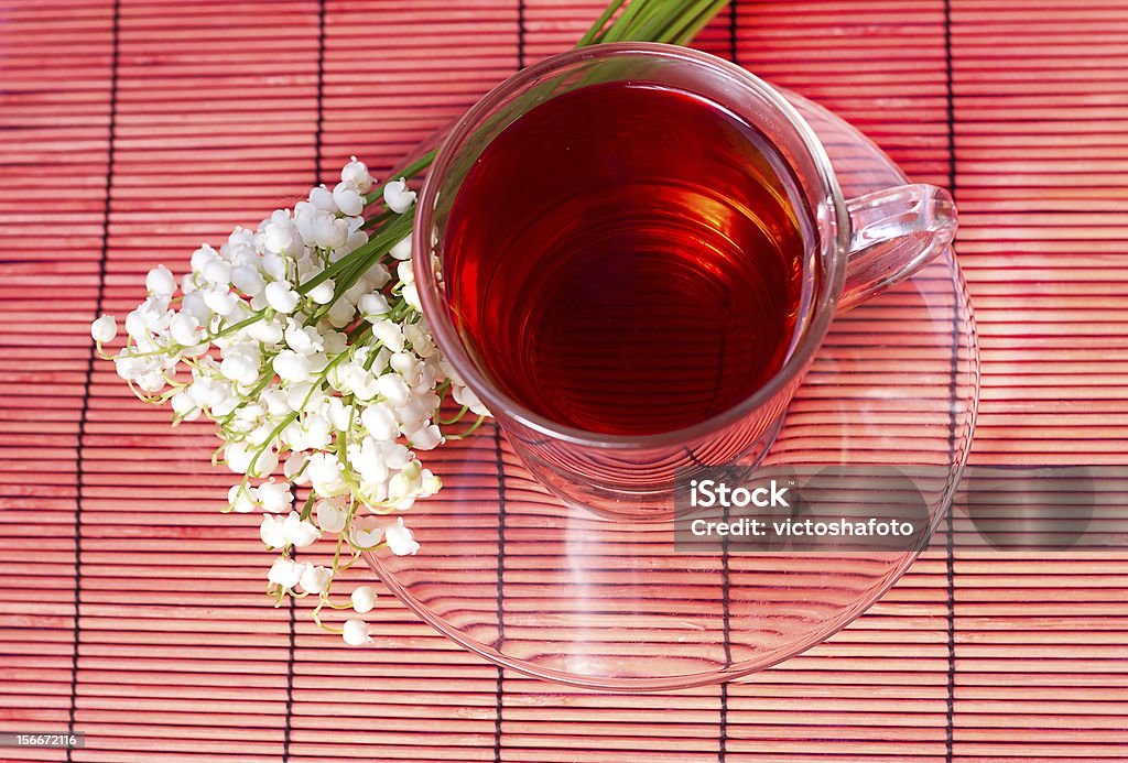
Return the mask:
{"type": "Polygon", "coordinates": [[[637,521],[672,516],[676,479],[693,479],[698,470],[721,465],[755,468],[772,445],[835,316],[911,276],[954,234],[955,207],[942,188],[906,185],[844,198],[814,132],[757,77],[699,51],[626,43],[549,57],[511,77],[458,121],[420,196],[413,255],[420,299],[439,348],[490,409],[531,473],[572,505],[637,521]],[[726,410],[680,429],[638,436],[565,426],[510,396],[474,360],[443,281],[451,204],[490,142],[549,98],[616,81],[696,94],[759,130],[790,166],[800,212],[810,222],[803,232],[810,299],[800,309],[779,370],[726,410]]]}

